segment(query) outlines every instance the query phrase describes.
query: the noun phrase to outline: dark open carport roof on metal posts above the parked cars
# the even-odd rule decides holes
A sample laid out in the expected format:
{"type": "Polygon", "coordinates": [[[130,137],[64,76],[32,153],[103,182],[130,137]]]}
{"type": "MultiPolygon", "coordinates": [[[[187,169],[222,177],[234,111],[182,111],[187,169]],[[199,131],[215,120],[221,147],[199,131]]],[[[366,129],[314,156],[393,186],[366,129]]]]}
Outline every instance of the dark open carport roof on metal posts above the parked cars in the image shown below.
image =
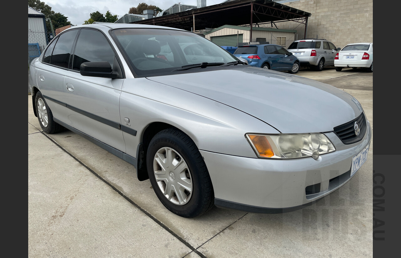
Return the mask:
{"type": "Polygon", "coordinates": [[[306,23],[307,18],[310,16],[309,12],[271,0],[235,0],[131,23],[190,30],[195,22],[195,30],[203,30],[223,25],[249,25],[270,22],[273,25],[275,22],[289,20],[306,23]]]}

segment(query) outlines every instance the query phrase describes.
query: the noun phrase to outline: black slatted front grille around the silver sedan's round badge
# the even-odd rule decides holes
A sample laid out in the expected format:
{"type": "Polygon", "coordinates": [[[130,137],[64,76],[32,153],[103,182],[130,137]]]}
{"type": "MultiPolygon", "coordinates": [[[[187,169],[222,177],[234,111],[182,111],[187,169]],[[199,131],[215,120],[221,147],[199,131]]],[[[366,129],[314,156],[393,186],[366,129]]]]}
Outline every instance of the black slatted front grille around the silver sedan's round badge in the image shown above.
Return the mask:
{"type": "Polygon", "coordinates": [[[340,126],[334,127],[334,133],[338,136],[338,138],[340,138],[340,140],[344,144],[353,144],[363,139],[363,136],[365,136],[366,128],[367,128],[366,118],[362,112],[362,114],[360,114],[360,116],[358,116],[354,120],[342,124],[340,126]],[[355,135],[354,131],[355,122],[358,122],[360,128],[358,136],[355,135]]]}

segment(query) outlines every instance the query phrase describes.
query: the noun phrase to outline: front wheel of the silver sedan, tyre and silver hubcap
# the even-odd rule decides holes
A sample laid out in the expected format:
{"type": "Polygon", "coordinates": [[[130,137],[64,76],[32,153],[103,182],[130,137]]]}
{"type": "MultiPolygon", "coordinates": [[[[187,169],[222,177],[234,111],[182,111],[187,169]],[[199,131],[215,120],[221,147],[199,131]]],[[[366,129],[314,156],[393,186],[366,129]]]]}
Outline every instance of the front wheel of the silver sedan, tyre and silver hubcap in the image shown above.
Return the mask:
{"type": "Polygon", "coordinates": [[[184,132],[175,128],[158,132],[150,141],[146,157],[153,190],[170,212],[194,218],[213,207],[209,171],[195,143],[184,132]]]}

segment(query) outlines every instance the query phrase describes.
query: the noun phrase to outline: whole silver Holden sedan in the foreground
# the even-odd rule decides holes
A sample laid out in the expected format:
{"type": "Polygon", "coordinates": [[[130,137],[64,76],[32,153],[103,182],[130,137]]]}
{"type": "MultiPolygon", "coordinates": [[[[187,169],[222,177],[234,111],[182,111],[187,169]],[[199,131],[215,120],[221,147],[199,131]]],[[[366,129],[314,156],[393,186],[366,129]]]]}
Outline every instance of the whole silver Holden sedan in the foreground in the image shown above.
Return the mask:
{"type": "Polygon", "coordinates": [[[185,30],[74,26],[29,73],[44,132],[67,128],[134,165],[138,180],[149,179],[160,202],[183,217],[213,205],[302,208],[351,180],[371,142],[351,95],[251,67],[185,30]]]}

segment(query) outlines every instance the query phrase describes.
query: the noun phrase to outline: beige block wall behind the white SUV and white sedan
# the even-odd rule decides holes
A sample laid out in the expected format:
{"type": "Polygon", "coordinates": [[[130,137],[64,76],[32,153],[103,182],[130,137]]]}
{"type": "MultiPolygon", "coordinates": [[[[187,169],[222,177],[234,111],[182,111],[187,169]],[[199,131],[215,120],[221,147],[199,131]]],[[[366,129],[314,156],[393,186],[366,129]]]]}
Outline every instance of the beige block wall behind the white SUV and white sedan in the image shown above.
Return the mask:
{"type": "MultiPolygon", "coordinates": [[[[373,42],[373,0],[299,0],[283,4],[312,14],[306,38],[317,35],[340,48],[349,43],[373,42]]],[[[297,30],[295,37],[304,38],[304,24],[276,24],[279,29],[297,30]]]]}

